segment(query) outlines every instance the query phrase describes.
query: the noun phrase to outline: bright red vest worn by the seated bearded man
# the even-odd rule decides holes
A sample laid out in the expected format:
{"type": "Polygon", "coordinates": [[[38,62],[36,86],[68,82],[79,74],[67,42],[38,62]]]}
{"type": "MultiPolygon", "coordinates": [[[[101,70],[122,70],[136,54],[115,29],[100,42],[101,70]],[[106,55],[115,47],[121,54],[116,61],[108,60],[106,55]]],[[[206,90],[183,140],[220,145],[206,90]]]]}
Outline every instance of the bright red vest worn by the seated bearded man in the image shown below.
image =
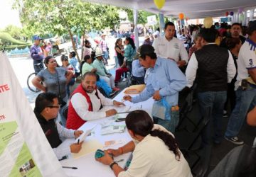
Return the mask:
{"type": "MultiPolygon", "coordinates": [[[[92,102],[90,101],[90,96],[88,96],[88,94],[86,93],[86,91],[82,88],[82,84],[80,84],[77,89],[75,89],[75,91],[73,91],[71,97],[75,94],[75,93],[81,93],[82,96],[85,96],[86,101],[89,105],[88,110],[92,111],[92,102]]],[[[97,95],[97,88],[96,88],[96,96],[97,95]]],[[[99,98],[99,97],[98,97],[99,98]]],[[[68,129],[73,129],[73,130],[78,130],[79,127],[81,127],[86,121],[82,120],[82,118],[80,118],[80,116],[78,115],[78,113],[76,113],[75,109],[73,108],[73,105],[70,101],[69,105],[68,105],[68,118],[67,118],[67,122],[66,122],[66,127],[68,129]]]]}

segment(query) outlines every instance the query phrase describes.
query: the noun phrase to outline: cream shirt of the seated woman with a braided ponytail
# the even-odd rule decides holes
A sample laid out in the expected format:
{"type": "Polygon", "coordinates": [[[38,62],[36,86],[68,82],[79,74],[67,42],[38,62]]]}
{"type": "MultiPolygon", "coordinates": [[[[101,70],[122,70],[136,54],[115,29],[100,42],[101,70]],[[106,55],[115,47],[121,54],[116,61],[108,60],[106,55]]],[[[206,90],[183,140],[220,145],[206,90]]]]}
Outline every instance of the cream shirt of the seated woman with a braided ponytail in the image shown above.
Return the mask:
{"type": "MultiPolygon", "coordinates": [[[[161,125],[155,124],[154,129],[168,132],[161,125]]],[[[192,174],[188,162],[182,153],[180,160],[176,160],[174,152],[169,150],[169,147],[164,144],[163,140],[159,137],[147,135],[142,142],[136,144],[129,169],[120,172],[118,175],[118,177],[134,176],[192,177],[192,174]]]]}

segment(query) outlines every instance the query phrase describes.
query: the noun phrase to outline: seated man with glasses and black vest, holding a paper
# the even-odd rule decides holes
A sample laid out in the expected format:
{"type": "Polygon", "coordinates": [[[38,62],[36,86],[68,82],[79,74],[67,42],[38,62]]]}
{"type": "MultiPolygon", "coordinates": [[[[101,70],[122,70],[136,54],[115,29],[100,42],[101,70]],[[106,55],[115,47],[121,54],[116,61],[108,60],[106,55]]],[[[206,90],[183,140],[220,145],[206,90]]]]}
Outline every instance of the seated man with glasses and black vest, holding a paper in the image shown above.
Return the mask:
{"type": "Polygon", "coordinates": [[[82,147],[80,144],[71,144],[69,147],[63,147],[60,144],[62,140],[60,137],[72,138],[79,137],[82,134],[81,130],[69,130],[59,122],[55,121],[58,116],[60,105],[58,104],[58,96],[55,93],[40,93],[36,98],[34,113],[38,122],[40,123],[43,132],[53,148],[58,159],[70,154],[70,152],[78,153],[82,147]]]}

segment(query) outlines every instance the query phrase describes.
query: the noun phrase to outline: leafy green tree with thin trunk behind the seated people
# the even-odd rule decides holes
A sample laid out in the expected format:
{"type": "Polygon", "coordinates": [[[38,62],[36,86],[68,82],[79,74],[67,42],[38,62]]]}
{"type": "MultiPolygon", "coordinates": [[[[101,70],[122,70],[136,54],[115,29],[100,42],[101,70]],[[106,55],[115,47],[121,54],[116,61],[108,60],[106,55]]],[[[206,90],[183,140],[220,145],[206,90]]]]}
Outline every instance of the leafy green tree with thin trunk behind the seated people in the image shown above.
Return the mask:
{"type": "MultiPolygon", "coordinates": [[[[118,8],[91,4],[82,0],[16,0],[15,8],[21,11],[21,22],[29,31],[54,35],[74,33],[84,35],[85,30],[112,28],[119,24],[118,8]]],[[[73,50],[78,56],[73,43],[73,50]]],[[[78,57],[80,61],[80,58],[78,57]]]]}

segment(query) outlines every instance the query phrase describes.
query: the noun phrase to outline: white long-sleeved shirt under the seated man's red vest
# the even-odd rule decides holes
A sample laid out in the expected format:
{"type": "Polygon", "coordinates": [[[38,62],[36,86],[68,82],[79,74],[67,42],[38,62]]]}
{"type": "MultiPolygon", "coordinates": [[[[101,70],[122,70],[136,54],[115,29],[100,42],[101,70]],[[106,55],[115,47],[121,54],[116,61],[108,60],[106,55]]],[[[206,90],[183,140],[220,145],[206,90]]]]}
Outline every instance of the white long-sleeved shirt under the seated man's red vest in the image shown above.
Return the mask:
{"type": "Polygon", "coordinates": [[[97,90],[97,93],[100,99],[97,98],[95,93],[96,90],[94,90],[92,93],[87,93],[90,97],[90,101],[92,102],[92,111],[88,110],[89,105],[87,100],[85,96],[82,96],[81,93],[75,93],[70,99],[75,112],[78,113],[82,120],[88,121],[105,118],[107,115],[105,111],[100,111],[100,105],[113,105],[113,101],[110,98],[103,96],[99,90],[97,90]]]}

